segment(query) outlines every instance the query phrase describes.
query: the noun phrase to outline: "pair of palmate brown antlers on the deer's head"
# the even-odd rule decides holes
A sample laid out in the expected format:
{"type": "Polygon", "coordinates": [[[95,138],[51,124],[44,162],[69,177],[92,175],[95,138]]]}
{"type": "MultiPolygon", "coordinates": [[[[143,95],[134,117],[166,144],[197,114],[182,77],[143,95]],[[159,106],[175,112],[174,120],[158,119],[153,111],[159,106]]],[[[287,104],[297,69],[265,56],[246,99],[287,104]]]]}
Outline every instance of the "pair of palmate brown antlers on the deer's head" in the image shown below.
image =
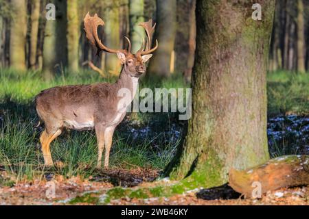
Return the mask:
{"type": "MultiPolygon", "coordinates": [[[[117,53],[122,52],[125,54],[131,53],[131,42],[129,38],[126,38],[128,41],[128,49],[110,49],[106,47],[98,36],[98,26],[104,25],[104,21],[98,16],[98,14],[95,14],[94,16],[90,16],[89,12],[84,17],[84,30],[86,31],[86,37],[88,40],[97,48],[97,55],[100,53],[100,51],[106,51],[108,53],[117,53]]],[[[137,54],[139,55],[147,55],[152,53],[158,48],[158,40],[156,40],[156,46],[152,49],[151,48],[151,42],[152,42],[152,35],[155,31],[155,25],[152,27],[152,20],[150,19],[148,22],[140,23],[141,27],[144,27],[146,34],[147,34],[147,43],[146,43],[146,49],[144,49],[144,38],[143,43],[141,44],[141,49],[137,51],[137,54]]]]}

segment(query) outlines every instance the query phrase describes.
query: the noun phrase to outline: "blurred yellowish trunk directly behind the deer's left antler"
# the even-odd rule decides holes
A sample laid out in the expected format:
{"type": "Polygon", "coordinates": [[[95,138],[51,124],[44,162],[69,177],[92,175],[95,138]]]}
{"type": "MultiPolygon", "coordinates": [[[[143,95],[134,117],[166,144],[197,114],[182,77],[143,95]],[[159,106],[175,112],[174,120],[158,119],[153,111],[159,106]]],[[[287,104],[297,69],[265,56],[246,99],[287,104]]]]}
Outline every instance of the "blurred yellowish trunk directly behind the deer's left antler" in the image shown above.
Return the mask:
{"type": "MultiPolygon", "coordinates": [[[[120,25],[119,25],[119,8],[117,1],[108,1],[105,12],[105,40],[104,43],[113,49],[120,49],[120,25]]],[[[106,53],[105,70],[112,75],[118,75],[120,72],[120,62],[117,55],[106,53]]]]}

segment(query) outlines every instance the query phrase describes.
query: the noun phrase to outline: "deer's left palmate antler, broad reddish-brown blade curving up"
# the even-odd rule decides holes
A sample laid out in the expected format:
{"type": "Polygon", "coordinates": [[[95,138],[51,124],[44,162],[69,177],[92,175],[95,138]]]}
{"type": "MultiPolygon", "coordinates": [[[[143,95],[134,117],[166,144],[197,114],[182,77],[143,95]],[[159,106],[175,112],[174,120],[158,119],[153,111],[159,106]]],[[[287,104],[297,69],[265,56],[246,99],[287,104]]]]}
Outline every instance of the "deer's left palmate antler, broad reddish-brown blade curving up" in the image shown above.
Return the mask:
{"type": "MultiPolygon", "coordinates": [[[[86,31],[86,37],[88,40],[97,48],[97,55],[100,51],[106,51],[108,53],[117,53],[118,51],[122,53],[127,53],[124,49],[109,49],[108,47],[102,44],[101,40],[98,37],[98,26],[104,25],[104,21],[98,17],[98,14],[90,16],[89,12],[84,17],[84,30],[86,31]]],[[[128,38],[126,38],[128,40],[128,38]]],[[[128,40],[130,45],[130,40],[128,40]]],[[[130,46],[129,46],[130,47],[130,46]]]]}

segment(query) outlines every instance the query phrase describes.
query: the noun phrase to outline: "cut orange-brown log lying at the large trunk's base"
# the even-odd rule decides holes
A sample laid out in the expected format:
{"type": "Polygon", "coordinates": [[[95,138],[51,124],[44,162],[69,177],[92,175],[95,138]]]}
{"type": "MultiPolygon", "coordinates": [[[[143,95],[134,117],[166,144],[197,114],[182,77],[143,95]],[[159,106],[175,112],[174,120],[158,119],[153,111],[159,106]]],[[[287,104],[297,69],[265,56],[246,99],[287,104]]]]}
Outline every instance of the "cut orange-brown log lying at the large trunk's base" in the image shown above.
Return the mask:
{"type": "Polygon", "coordinates": [[[253,190],[257,185],[260,185],[261,194],[279,188],[309,185],[309,156],[277,157],[248,170],[231,168],[229,185],[246,197],[254,196],[253,190]]]}

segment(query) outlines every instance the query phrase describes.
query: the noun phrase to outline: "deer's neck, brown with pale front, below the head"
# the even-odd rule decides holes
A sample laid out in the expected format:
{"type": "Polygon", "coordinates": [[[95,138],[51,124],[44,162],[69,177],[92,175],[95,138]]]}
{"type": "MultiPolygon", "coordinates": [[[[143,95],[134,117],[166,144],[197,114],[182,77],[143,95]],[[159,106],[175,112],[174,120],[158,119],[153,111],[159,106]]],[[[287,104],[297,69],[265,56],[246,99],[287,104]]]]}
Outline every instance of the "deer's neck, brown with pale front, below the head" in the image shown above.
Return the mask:
{"type": "Polygon", "coordinates": [[[120,73],[119,79],[117,80],[116,84],[119,89],[126,88],[130,90],[130,101],[132,101],[138,89],[139,78],[130,76],[126,73],[125,68],[122,68],[122,72],[120,73]]]}

